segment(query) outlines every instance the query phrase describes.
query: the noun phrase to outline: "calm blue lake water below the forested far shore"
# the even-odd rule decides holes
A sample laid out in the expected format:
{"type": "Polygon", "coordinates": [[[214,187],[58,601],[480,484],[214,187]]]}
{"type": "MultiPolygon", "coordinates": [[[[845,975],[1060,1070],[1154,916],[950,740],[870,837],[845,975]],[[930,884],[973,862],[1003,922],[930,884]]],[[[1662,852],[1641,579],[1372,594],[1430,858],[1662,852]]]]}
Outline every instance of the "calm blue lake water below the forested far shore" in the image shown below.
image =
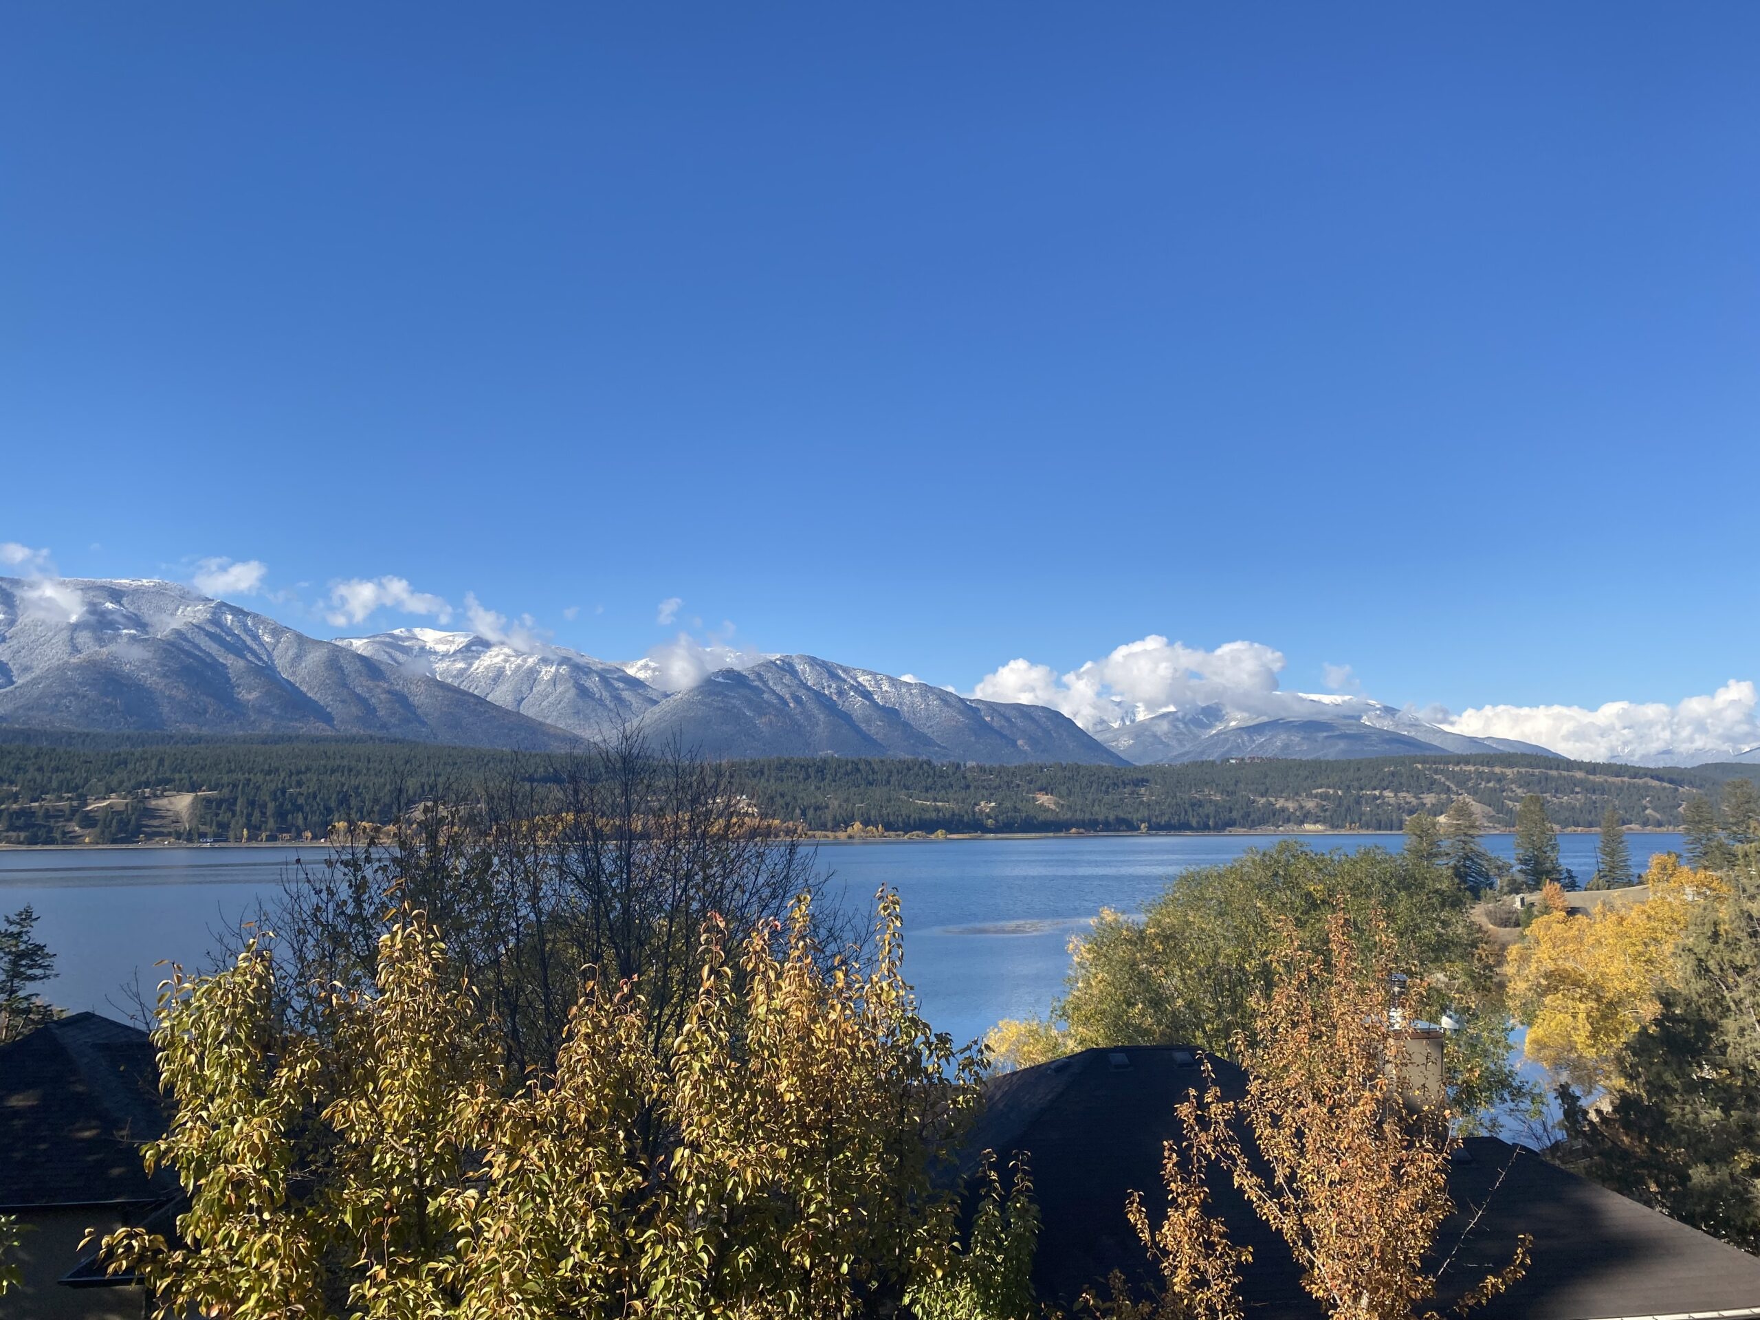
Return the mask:
{"type": "MultiPolygon", "coordinates": [[[[1239,857],[1278,838],[1315,848],[1397,848],[1397,834],[1184,834],[1049,840],[822,843],[832,887],[868,899],[896,887],[905,906],[905,972],[924,1014],[956,1040],[998,1017],[1042,1014],[1063,986],[1067,945],[1100,908],[1140,912],[1181,871],[1239,857]]],[[[1561,834],[1565,866],[1595,871],[1595,834],[1561,834]]],[[[1679,850],[1679,834],[1630,834],[1632,861],[1679,850]]],[[[1512,855],[1508,834],[1485,845],[1512,855]]],[[[0,850],[0,913],[30,903],[56,954],[46,994],[69,1010],[121,1016],[118,987],[158,959],[199,966],[213,931],[236,928],[275,894],[296,857],[322,848],[19,848],[0,850]]]]}

